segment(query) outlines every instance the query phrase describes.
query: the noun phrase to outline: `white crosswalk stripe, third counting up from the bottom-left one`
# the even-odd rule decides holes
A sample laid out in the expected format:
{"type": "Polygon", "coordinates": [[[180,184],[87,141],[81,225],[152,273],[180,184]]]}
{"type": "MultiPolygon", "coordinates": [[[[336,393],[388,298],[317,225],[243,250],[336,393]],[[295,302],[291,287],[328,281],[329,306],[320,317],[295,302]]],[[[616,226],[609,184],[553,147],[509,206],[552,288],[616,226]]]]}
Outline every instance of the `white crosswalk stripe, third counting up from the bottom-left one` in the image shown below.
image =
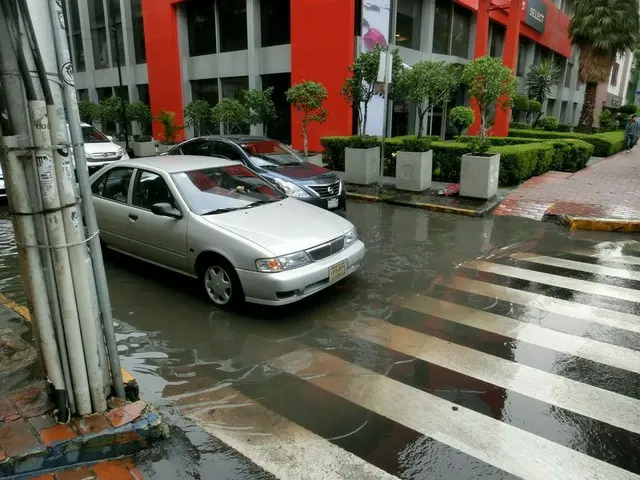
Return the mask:
{"type": "Polygon", "coordinates": [[[406,355],[640,433],[640,401],[373,318],[343,330],[406,355]]]}

